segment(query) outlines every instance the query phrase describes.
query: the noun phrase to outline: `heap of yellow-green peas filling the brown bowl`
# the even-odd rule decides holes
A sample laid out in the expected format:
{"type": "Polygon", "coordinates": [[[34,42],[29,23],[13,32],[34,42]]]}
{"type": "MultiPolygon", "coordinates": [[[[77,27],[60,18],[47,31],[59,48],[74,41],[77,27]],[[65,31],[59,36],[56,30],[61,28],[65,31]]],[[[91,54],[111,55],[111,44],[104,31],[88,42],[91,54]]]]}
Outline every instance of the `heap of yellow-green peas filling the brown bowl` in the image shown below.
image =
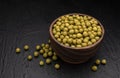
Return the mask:
{"type": "Polygon", "coordinates": [[[97,42],[102,35],[99,22],[87,15],[64,15],[52,28],[55,39],[69,47],[86,47],[97,42]]]}

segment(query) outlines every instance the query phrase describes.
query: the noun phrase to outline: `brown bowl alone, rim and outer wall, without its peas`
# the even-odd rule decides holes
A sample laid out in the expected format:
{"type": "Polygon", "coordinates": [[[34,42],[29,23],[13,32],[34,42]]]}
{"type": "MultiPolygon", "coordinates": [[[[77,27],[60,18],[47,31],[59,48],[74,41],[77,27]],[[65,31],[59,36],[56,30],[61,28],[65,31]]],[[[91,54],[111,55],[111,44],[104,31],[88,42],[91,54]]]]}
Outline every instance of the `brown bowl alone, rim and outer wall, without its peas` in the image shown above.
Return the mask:
{"type": "MultiPolygon", "coordinates": [[[[81,13],[71,13],[71,14],[66,14],[66,15],[74,15],[74,14],[78,14],[80,16],[84,16],[84,15],[90,16],[90,15],[81,14],[81,13]]],[[[64,16],[64,15],[62,15],[62,16],[64,16]]],[[[90,17],[92,17],[92,16],[90,16],[90,17]]],[[[73,47],[65,46],[55,39],[55,37],[52,33],[52,28],[53,28],[53,25],[58,20],[58,18],[55,19],[51,23],[50,28],[49,28],[51,47],[53,48],[53,50],[63,61],[71,63],[71,64],[80,64],[80,63],[84,63],[84,62],[88,61],[91,57],[93,57],[96,54],[98,48],[100,47],[100,44],[103,41],[104,32],[105,32],[103,25],[96,18],[92,17],[92,18],[96,19],[98,21],[98,24],[101,26],[102,36],[100,37],[100,39],[97,42],[95,42],[92,45],[89,45],[86,47],[80,47],[80,48],[77,48],[77,47],[73,48],[73,47]]]]}

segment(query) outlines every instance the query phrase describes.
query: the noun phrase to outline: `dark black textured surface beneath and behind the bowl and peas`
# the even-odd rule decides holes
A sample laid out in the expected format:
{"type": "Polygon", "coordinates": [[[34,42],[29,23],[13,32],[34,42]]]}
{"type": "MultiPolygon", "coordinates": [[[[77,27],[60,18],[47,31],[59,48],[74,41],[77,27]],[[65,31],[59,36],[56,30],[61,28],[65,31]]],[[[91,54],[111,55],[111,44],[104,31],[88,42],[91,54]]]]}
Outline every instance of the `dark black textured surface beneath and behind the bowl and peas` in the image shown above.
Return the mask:
{"type": "Polygon", "coordinates": [[[98,0],[8,0],[0,2],[0,78],[120,78],[120,13],[117,2],[98,0]],[[116,5],[116,6],[114,6],[116,5]],[[39,60],[27,61],[36,44],[47,42],[49,25],[67,13],[89,14],[104,25],[104,41],[86,63],[72,65],[63,62],[60,70],[51,65],[39,66],[39,60]],[[15,48],[28,44],[30,50],[20,54],[15,48]],[[90,67],[95,59],[106,58],[107,65],[100,65],[97,72],[90,67]]]}

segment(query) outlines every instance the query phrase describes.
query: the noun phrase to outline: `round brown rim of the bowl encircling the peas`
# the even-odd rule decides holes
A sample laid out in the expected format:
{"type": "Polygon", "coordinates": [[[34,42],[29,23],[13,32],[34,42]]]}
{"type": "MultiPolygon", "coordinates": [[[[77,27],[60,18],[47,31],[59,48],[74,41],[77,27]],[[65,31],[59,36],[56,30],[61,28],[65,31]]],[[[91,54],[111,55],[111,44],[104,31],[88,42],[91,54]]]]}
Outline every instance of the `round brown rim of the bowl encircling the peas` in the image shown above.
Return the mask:
{"type": "Polygon", "coordinates": [[[97,44],[99,44],[99,43],[103,40],[103,37],[104,37],[104,34],[105,34],[104,27],[103,27],[103,25],[101,24],[101,22],[100,22],[98,19],[96,19],[95,17],[93,17],[93,16],[91,16],[91,15],[88,15],[88,14],[83,14],[83,13],[68,13],[68,14],[64,14],[64,15],[61,15],[61,16],[57,17],[57,18],[50,24],[50,27],[49,27],[50,36],[52,37],[52,39],[53,39],[58,45],[60,45],[60,46],[62,46],[62,47],[65,47],[65,48],[67,48],[67,49],[76,49],[76,50],[82,49],[82,50],[85,50],[85,49],[89,49],[89,48],[92,48],[92,47],[96,46],[97,44]],[[74,47],[69,47],[69,46],[65,46],[65,45],[63,45],[63,44],[60,44],[60,42],[58,42],[58,41],[55,39],[55,37],[53,36],[53,33],[52,33],[52,27],[53,27],[53,25],[55,24],[55,22],[56,22],[56,21],[58,20],[58,18],[60,18],[61,16],[73,15],[73,14],[90,16],[90,17],[92,17],[92,18],[94,18],[95,20],[98,21],[99,25],[100,25],[101,28],[102,28],[102,36],[100,37],[100,39],[99,39],[97,42],[95,42],[95,43],[92,44],[92,45],[86,46],[86,47],[75,47],[75,48],[74,48],[74,47]]]}

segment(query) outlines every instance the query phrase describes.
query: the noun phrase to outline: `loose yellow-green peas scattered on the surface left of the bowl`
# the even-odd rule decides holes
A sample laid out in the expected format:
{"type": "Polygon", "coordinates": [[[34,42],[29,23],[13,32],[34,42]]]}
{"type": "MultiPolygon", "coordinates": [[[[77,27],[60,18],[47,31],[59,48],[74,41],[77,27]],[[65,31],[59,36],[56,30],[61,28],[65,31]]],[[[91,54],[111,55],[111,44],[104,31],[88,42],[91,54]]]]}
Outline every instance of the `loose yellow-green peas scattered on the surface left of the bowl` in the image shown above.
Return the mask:
{"type": "MultiPolygon", "coordinates": [[[[39,65],[40,66],[43,66],[44,62],[46,64],[51,64],[52,61],[56,61],[58,59],[56,53],[52,50],[52,48],[50,47],[49,43],[50,43],[50,40],[48,41],[47,44],[42,43],[41,45],[36,45],[36,51],[34,51],[34,53],[33,53],[34,57],[37,58],[39,55],[42,55],[43,58],[45,58],[45,61],[43,61],[43,60],[39,61],[39,65]]],[[[24,46],[24,50],[25,51],[29,50],[29,46],[25,45],[24,46]]],[[[20,48],[16,48],[16,53],[20,53],[20,52],[21,52],[21,49],[20,48]]],[[[32,58],[33,58],[32,55],[28,55],[27,56],[27,59],[29,61],[31,61],[32,58]]],[[[55,69],[59,69],[60,68],[60,64],[55,63],[54,67],[55,67],[55,69]]]]}

